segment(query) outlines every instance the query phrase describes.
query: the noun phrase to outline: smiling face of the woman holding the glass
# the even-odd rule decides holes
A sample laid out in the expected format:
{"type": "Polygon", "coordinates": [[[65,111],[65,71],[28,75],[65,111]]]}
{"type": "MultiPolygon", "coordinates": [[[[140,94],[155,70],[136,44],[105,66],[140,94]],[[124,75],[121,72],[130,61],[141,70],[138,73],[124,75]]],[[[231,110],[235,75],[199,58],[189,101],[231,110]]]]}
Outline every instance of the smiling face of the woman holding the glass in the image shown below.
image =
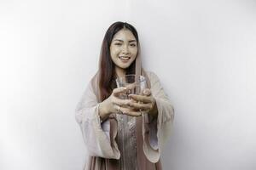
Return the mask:
{"type": "Polygon", "coordinates": [[[121,68],[128,68],[137,56],[137,40],[128,29],[118,31],[110,44],[113,63],[121,68]]]}

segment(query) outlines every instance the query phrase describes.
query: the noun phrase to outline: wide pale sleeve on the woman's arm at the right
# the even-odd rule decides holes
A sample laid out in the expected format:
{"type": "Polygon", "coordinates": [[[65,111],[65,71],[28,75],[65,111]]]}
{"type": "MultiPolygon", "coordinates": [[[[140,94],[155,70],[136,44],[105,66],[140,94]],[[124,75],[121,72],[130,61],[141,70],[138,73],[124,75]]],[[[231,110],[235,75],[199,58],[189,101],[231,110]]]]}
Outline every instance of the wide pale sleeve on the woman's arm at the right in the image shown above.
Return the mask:
{"type": "Polygon", "coordinates": [[[157,105],[158,116],[155,119],[148,115],[143,118],[143,150],[149,161],[157,162],[172,132],[174,109],[159,78],[153,72],[148,73],[148,78],[151,82],[151,92],[157,105]]]}

